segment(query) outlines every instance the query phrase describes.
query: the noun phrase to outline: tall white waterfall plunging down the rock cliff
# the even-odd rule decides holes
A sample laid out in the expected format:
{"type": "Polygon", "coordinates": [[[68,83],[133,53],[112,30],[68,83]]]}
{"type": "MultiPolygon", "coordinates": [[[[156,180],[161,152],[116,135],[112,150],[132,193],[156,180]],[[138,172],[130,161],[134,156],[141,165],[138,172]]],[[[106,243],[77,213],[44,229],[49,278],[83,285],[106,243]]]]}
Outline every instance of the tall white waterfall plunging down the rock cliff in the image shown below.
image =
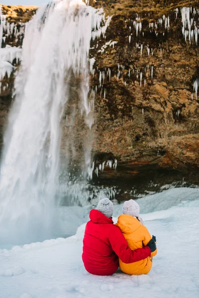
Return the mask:
{"type": "Polygon", "coordinates": [[[70,84],[79,77],[79,106],[89,134],[94,122],[88,102],[90,42],[104,34],[109,20],[82,0],[62,0],[40,7],[26,25],[0,165],[4,243],[42,240],[59,230],[61,123],[70,84]]]}

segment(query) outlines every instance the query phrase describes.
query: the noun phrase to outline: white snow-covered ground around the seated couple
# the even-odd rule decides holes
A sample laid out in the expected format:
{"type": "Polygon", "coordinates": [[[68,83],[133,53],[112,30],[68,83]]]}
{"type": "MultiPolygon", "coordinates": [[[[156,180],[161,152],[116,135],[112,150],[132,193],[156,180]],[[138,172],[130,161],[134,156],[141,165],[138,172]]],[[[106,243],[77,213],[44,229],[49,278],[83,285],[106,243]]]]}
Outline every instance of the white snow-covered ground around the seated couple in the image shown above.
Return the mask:
{"type": "MultiPolygon", "coordinates": [[[[142,218],[157,237],[158,254],[148,275],[88,274],[81,259],[83,224],[75,236],[1,249],[0,298],[198,298],[199,189],[170,189],[139,204],[142,213],[151,212],[142,218]]],[[[115,206],[116,216],[120,211],[121,205],[115,206]]],[[[72,209],[63,215],[73,225],[69,213],[72,209]]]]}

